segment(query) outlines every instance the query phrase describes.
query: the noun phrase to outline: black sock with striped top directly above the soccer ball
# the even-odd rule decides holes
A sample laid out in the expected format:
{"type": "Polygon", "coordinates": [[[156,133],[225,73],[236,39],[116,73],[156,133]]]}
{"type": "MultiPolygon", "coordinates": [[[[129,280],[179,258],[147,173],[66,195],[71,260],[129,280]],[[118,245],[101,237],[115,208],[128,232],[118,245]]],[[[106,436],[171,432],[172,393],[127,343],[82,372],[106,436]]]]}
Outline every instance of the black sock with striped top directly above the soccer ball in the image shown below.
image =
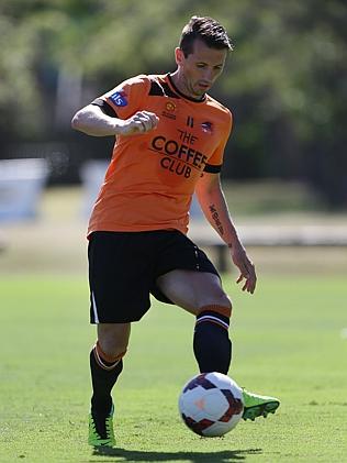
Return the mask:
{"type": "Polygon", "coordinates": [[[232,360],[232,342],[228,339],[231,308],[204,306],[197,317],[193,350],[200,373],[227,374],[232,360]]]}

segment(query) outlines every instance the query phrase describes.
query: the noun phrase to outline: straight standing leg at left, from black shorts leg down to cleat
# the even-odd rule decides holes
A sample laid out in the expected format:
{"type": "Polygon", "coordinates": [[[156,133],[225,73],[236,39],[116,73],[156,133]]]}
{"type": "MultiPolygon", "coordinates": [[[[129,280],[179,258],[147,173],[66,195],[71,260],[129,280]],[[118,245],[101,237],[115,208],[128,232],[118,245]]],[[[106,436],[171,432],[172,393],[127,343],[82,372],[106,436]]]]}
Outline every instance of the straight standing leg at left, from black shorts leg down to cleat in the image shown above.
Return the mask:
{"type": "Polygon", "coordinates": [[[89,443],[114,445],[111,392],[122,368],[131,322],[149,308],[148,255],[136,234],[98,232],[89,242],[90,321],[98,339],[90,352],[89,443]],[[138,260],[136,260],[138,258],[138,260]]]}

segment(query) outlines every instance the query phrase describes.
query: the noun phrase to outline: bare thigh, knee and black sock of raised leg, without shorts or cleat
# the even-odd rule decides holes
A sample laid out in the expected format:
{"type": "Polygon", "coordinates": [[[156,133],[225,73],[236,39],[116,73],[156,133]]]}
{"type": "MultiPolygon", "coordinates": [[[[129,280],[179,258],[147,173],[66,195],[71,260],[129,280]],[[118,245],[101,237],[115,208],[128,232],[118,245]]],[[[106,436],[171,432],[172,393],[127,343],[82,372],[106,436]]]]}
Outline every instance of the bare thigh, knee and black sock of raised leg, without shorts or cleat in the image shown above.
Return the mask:
{"type": "Polygon", "coordinates": [[[226,374],[232,359],[228,338],[232,304],[211,273],[176,269],[157,279],[174,304],[195,316],[193,350],[200,372],[226,374]]]}

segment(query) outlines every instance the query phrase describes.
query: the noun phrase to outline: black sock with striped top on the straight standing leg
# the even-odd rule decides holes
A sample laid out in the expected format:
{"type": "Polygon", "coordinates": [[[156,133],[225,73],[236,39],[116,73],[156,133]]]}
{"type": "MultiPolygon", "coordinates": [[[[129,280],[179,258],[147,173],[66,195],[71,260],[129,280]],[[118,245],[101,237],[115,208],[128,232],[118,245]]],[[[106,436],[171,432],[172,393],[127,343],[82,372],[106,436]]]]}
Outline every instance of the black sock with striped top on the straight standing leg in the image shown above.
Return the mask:
{"type": "Polygon", "coordinates": [[[110,357],[102,352],[99,342],[90,352],[90,373],[92,383],[91,410],[108,415],[112,407],[111,390],[123,370],[125,352],[110,357]]]}

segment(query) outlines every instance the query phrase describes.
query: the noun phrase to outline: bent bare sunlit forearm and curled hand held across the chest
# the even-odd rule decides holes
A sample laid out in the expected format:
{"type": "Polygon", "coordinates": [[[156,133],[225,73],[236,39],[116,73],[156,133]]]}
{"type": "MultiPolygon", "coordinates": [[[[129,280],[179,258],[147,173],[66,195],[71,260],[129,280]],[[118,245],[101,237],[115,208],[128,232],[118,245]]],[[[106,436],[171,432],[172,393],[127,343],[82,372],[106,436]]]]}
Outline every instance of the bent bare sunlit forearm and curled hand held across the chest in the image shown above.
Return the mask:
{"type": "Polygon", "coordinates": [[[128,119],[107,114],[102,107],[88,104],[76,112],[71,126],[92,136],[134,135],[155,129],[159,119],[149,111],[137,111],[128,119]]]}

